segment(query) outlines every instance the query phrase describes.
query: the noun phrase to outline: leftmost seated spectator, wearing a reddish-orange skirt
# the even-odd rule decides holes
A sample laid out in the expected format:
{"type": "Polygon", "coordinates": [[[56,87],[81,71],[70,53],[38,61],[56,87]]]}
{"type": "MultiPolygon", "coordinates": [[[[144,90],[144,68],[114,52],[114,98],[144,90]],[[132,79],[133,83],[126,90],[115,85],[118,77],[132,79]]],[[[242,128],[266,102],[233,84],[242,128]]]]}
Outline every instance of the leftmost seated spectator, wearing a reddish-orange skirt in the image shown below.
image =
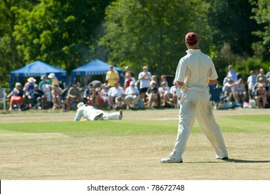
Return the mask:
{"type": "Polygon", "coordinates": [[[7,98],[10,98],[10,111],[13,107],[17,107],[21,111],[21,105],[23,103],[24,92],[21,89],[21,83],[17,82],[15,88],[8,94],[7,98]]]}

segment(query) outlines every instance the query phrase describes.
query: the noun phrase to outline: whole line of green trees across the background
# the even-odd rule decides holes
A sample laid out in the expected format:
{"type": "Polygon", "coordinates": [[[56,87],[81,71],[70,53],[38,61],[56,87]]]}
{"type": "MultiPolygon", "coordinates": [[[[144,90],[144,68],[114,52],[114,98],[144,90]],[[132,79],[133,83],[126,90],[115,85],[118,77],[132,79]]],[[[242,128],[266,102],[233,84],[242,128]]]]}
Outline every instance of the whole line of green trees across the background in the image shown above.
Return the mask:
{"type": "Polygon", "coordinates": [[[268,0],[1,0],[0,81],[41,60],[69,73],[99,59],[139,73],[174,75],[195,31],[220,79],[270,64],[268,0]]]}

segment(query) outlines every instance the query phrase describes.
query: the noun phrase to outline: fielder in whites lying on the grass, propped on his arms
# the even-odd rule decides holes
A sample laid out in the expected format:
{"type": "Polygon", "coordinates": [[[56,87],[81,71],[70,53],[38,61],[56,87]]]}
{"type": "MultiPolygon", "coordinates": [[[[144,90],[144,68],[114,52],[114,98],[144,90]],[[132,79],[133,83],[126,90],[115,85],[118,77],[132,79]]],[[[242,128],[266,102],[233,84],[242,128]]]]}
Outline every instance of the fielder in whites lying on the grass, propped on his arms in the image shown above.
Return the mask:
{"type": "Polygon", "coordinates": [[[106,113],[101,109],[95,109],[94,107],[85,105],[84,103],[79,103],[77,108],[77,114],[74,121],[79,121],[81,116],[87,121],[121,120],[123,118],[122,110],[119,110],[119,112],[106,113]]]}

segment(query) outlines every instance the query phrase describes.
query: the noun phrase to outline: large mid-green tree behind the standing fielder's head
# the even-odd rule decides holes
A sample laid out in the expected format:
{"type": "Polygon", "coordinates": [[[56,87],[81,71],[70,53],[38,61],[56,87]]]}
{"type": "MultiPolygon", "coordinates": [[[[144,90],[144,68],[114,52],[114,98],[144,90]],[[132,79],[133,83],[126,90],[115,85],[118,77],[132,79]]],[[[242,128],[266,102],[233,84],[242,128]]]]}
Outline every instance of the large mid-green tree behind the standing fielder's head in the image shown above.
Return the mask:
{"type": "Polygon", "coordinates": [[[119,0],[107,9],[100,43],[107,46],[113,64],[130,64],[135,72],[146,65],[157,75],[174,74],[185,55],[187,32],[201,35],[202,48],[208,51],[207,9],[199,0],[119,0]]]}

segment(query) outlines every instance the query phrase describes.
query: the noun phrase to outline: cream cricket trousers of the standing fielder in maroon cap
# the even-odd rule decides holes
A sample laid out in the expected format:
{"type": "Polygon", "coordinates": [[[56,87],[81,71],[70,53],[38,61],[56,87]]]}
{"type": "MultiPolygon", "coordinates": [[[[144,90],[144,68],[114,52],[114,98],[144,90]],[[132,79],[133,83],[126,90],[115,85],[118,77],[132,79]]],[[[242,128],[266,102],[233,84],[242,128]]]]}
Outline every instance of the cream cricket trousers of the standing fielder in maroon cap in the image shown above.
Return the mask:
{"type": "Polygon", "coordinates": [[[204,134],[206,134],[215,153],[220,158],[228,157],[222,132],[220,131],[220,126],[215,123],[209,99],[209,91],[186,91],[183,94],[180,100],[177,139],[171,153],[173,157],[182,159],[195,118],[202,127],[204,134]]]}

